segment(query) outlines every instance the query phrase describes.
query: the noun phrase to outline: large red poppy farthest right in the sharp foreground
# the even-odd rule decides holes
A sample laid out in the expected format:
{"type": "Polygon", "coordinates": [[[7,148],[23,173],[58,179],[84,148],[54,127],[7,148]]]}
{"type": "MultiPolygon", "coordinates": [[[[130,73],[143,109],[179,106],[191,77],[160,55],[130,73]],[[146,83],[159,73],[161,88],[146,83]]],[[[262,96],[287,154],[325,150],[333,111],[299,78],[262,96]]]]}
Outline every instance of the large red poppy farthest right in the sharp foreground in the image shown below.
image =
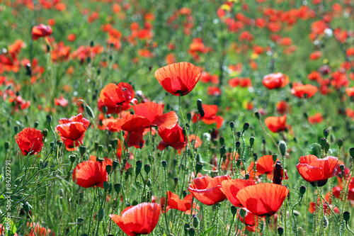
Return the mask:
{"type": "Polygon", "coordinates": [[[296,168],[302,179],[312,186],[324,186],[329,178],[336,175],[337,165],[336,157],[328,156],[319,159],[315,155],[307,155],[299,158],[296,168]]]}

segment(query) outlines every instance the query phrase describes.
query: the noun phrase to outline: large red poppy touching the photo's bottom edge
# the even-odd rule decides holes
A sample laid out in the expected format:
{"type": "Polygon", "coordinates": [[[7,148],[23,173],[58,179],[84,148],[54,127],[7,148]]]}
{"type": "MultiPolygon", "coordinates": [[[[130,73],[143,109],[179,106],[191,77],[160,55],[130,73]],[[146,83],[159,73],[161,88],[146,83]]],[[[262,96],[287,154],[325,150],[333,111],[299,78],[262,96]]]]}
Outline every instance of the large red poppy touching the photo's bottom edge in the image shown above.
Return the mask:
{"type": "Polygon", "coordinates": [[[140,203],[122,211],[122,215],[110,215],[110,218],[127,235],[148,235],[156,227],[161,213],[158,203],[140,203]]]}

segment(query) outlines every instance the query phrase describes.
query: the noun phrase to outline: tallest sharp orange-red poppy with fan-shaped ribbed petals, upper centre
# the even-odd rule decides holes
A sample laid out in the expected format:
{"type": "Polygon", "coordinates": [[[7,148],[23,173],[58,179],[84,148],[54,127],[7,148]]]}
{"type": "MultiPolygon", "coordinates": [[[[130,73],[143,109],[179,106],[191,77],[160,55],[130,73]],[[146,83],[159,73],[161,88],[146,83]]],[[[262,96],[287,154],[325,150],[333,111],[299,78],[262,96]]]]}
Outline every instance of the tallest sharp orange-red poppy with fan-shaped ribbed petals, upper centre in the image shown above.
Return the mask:
{"type": "Polygon", "coordinates": [[[157,69],[155,77],[170,94],[185,96],[198,83],[200,70],[194,64],[178,62],[157,69]]]}

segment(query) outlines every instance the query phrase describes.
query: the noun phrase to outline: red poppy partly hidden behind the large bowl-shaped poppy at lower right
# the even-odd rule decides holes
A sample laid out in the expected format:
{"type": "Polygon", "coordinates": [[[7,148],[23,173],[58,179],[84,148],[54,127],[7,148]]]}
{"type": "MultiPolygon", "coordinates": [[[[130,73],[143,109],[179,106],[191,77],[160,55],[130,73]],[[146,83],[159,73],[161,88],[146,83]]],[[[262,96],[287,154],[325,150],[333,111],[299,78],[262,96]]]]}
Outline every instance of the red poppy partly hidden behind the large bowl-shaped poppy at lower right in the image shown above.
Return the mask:
{"type": "Polygon", "coordinates": [[[244,189],[246,186],[253,184],[256,184],[255,181],[249,179],[228,179],[222,181],[220,190],[225,194],[232,205],[236,207],[242,207],[242,204],[240,203],[239,199],[236,198],[236,195],[241,189],[244,189]]]}

